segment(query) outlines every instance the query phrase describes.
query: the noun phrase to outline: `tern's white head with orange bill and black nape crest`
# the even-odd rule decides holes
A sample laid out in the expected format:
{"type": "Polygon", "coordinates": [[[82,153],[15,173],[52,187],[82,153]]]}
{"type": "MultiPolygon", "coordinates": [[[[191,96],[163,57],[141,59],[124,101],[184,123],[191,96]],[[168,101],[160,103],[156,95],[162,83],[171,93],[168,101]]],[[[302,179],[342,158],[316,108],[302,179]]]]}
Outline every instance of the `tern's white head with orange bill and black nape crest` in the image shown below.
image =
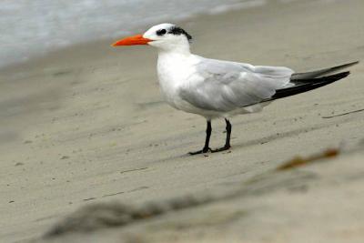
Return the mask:
{"type": "Polygon", "coordinates": [[[143,35],[128,36],[116,41],[112,46],[155,46],[164,51],[186,51],[189,52],[189,43],[192,37],[185,30],[173,24],[155,25],[143,35]]]}

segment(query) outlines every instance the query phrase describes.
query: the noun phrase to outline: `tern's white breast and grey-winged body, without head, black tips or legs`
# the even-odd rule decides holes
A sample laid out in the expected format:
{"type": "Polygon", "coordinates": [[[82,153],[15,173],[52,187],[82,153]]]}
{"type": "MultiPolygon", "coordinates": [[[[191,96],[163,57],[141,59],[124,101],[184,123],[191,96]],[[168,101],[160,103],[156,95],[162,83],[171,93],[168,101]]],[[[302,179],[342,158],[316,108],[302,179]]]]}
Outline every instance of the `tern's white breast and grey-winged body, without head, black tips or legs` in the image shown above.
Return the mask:
{"type": "Polygon", "coordinates": [[[169,105],[207,119],[260,111],[260,103],[289,86],[293,70],[161,51],[157,74],[169,105]]]}

